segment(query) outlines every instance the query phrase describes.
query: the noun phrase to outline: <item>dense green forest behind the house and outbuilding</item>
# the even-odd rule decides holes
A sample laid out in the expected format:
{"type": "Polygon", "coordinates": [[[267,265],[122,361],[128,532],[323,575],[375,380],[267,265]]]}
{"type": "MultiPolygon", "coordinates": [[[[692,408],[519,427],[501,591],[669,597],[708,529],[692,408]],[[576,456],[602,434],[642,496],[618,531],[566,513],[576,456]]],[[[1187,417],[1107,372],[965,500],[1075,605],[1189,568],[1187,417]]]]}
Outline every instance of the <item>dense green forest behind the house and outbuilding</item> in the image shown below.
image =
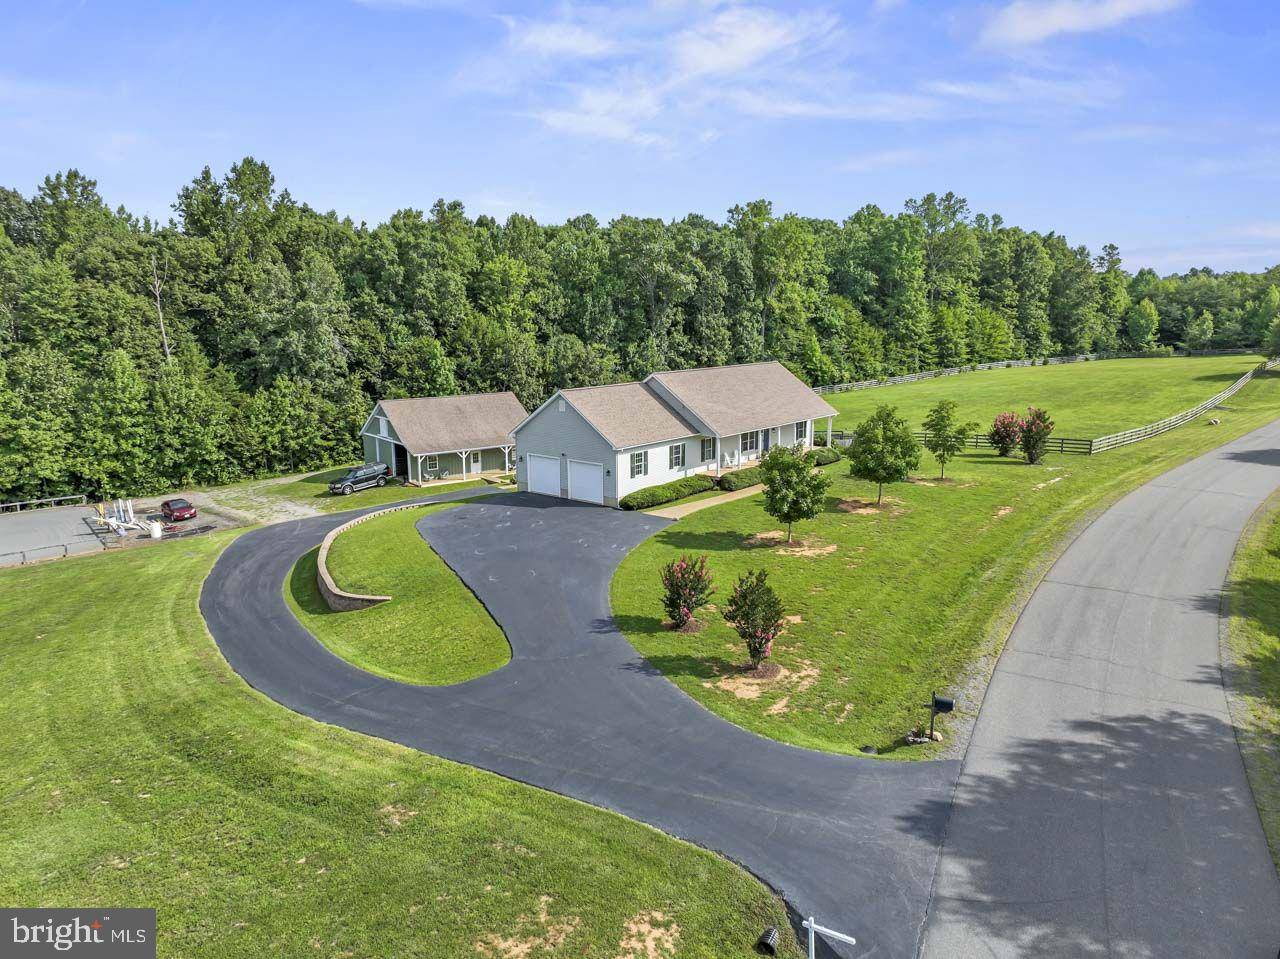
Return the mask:
{"type": "Polygon", "coordinates": [[[841,223],[767,201],[723,223],[376,227],[207,168],[173,218],[76,170],[0,189],[0,501],[141,494],[357,456],[378,397],[558,387],[777,357],[809,383],[1089,351],[1254,346],[1265,274],[1124,270],[947,193],[841,223]]]}

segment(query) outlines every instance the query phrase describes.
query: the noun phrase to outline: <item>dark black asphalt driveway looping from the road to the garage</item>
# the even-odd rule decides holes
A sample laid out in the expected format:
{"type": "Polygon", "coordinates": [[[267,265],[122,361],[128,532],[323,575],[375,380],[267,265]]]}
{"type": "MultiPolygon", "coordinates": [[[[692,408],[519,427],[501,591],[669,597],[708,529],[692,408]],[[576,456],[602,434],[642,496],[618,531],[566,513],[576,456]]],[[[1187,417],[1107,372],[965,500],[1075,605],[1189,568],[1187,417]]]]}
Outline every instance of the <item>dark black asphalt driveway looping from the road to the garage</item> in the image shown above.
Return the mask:
{"type": "Polygon", "coordinates": [[[608,586],[666,520],[530,494],[424,517],[424,535],[507,631],[513,658],[465,684],[422,688],[338,659],[284,604],[294,561],[346,519],[247,533],[206,580],[201,611],[253,686],[317,720],[716,849],[801,914],[855,935],[859,946],[844,954],[915,954],[959,763],[786,746],[717,718],[658,675],[613,626],[608,586]],[[904,816],[914,804],[923,812],[904,816]]]}

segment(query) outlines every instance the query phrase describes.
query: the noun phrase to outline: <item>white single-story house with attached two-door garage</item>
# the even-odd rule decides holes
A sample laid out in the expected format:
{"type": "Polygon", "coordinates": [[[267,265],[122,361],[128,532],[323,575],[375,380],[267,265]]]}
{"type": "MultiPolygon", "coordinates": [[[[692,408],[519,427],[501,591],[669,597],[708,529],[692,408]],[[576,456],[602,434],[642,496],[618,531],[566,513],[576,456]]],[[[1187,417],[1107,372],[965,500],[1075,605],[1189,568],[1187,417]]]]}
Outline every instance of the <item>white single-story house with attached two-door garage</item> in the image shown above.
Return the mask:
{"type": "Polygon", "coordinates": [[[617,506],[627,493],[750,465],[772,446],[812,446],[836,411],[780,362],[654,373],[561,389],[518,424],[522,490],[617,506]]]}

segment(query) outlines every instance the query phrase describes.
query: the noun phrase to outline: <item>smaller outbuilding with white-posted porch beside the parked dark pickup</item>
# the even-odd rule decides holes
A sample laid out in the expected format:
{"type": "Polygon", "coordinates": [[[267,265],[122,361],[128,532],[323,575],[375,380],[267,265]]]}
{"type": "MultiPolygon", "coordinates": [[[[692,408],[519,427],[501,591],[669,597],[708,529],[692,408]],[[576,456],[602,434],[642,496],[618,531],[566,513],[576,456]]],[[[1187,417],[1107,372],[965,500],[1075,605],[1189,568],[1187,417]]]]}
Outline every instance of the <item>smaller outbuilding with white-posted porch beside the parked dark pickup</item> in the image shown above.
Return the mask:
{"type": "Polygon", "coordinates": [[[365,462],[408,483],[509,471],[511,430],[527,415],[515,393],[381,399],[360,430],[365,462]]]}

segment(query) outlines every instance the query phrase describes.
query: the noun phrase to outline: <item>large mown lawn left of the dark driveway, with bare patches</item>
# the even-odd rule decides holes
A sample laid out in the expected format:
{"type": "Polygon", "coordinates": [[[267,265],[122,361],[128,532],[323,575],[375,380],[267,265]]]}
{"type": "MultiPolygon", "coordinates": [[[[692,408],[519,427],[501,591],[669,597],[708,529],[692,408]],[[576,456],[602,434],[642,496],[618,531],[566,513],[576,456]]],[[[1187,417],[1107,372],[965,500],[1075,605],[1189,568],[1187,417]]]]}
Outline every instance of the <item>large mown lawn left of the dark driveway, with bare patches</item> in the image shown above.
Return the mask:
{"type": "Polygon", "coordinates": [[[631,959],[637,923],[721,959],[786,930],[710,853],[255,693],[197,611],[230,538],[0,571],[6,905],[156,907],[161,956],[211,959],[631,959]]]}

